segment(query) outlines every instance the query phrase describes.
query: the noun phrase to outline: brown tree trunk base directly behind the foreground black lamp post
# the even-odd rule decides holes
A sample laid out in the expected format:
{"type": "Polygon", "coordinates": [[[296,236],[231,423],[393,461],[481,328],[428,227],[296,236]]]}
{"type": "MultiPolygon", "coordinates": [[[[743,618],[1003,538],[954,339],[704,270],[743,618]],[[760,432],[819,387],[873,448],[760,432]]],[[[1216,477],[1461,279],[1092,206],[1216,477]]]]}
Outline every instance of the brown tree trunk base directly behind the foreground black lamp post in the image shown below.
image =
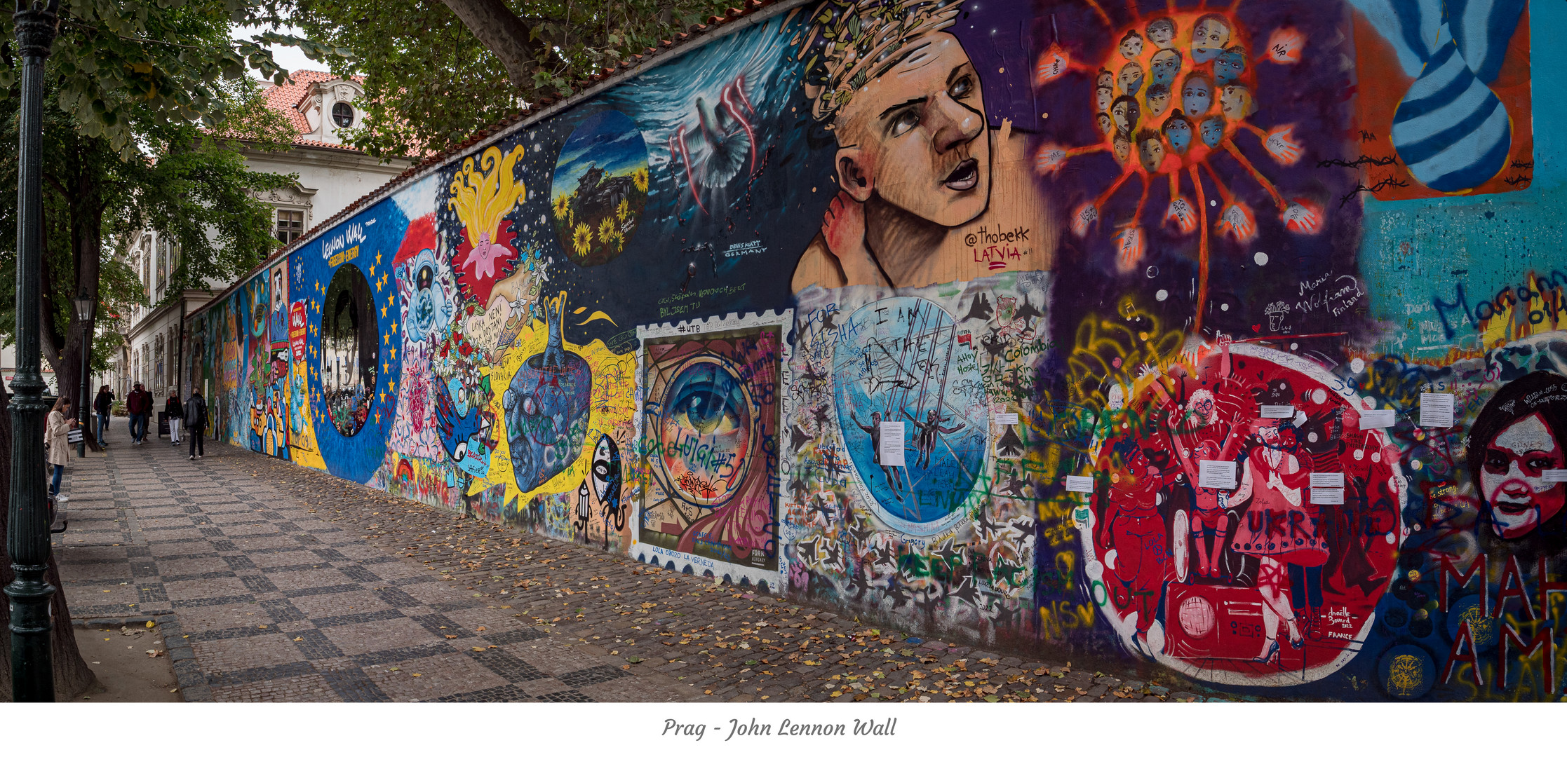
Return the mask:
{"type": "MultiPolygon", "coordinates": [[[[0,392],[0,531],[5,531],[11,517],[11,412],[9,397],[0,392]]],[[[38,444],[44,444],[42,439],[38,444]]],[[[0,585],[16,580],[11,570],[11,555],[6,553],[5,539],[0,539],[0,585]]],[[[60,564],[55,555],[49,555],[49,572],[44,580],[55,586],[50,599],[50,614],[55,627],[50,632],[50,655],[55,663],[55,699],[67,701],[81,696],[89,690],[99,690],[97,676],[92,668],[81,660],[77,649],[77,636],[71,628],[71,608],[66,605],[66,589],[60,583],[60,564]]],[[[3,596],[0,596],[3,597],[3,596]]],[[[11,701],[11,603],[0,602],[0,654],[5,665],[0,665],[0,702],[11,701]]]]}

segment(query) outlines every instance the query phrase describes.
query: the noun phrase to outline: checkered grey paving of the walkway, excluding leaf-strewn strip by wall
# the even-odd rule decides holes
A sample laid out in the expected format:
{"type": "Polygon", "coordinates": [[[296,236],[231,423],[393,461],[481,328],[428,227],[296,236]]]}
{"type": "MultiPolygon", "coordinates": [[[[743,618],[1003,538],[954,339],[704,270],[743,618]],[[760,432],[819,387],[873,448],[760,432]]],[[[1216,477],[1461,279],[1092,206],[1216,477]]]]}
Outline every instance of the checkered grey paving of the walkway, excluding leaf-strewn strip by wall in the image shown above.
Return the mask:
{"type": "MultiPolygon", "coordinates": [[[[213,445],[191,462],[160,447],[75,461],[56,550],[74,616],[161,619],[188,699],[522,702],[537,697],[517,682],[547,682],[552,701],[592,701],[503,649],[575,639],[362,544],[235,465],[251,453],[213,445]]],[[[589,663],[558,672],[627,676],[589,663]]],[[[661,682],[630,699],[689,696],[661,682]]]]}

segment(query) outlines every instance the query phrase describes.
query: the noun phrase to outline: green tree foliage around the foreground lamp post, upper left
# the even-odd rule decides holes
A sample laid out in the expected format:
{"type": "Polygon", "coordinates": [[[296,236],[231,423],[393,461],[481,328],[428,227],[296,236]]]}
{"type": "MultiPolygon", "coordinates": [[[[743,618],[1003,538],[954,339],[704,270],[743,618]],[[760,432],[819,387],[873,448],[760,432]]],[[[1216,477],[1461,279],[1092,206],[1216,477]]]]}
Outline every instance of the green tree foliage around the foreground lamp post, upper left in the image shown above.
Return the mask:
{"type": "MultiPolygon", "coordinates": [[[[229,36],[232,20],[268,19],[277,19],[277,5],[254,0],[61,2],[44,67],[42,346],[63,386],[78,376],[81,335],[96,331],[74,317],[77,293],[97,298],[100,315],[116,302],[128,315],[127,292],[102,292],[105,244],[124,248],[147,227],[177,237],[186,254],[171,292],[232,277],[276,248],[266,207],[249,193],[287,179],[249,172],[229,147],[237,139],[276,144],[287,127],[265,110],[246,72],[285,77],[265,44],[298,44],[318,56],[337,52],[287,34],[229,36]]],[[[13,24],[0,14],[0,39],[14,38],[13,24]]],[[[19,96],[20,61],[6,44],[0,49],[6,187],[16,185],[19,96]]],[[[8,244],[14,238],[14,207],[0,205],[3,257],[14,255],[8,244]]],[[[3,257],[0,281],[14,277],[3,257]]],[[[127,287],[135,276],[114,271],[107,281],[127,287]]],[[[136,293],[139,301],[147,296],[136,293]]],[[[0,331],[9,334],[14,304],[0,302],[0,331]]]]}

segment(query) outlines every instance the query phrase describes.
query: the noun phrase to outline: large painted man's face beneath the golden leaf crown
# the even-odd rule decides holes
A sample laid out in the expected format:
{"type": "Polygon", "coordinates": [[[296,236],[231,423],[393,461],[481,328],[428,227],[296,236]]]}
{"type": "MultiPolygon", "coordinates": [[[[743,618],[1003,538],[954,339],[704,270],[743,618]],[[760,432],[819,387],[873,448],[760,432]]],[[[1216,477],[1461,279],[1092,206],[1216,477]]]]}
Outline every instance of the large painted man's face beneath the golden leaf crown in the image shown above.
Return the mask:
{"type": "Polygon", "coordinates": [[[990,139],[979,75],[957,38],[928,33],[854,92],[838,118],[838,179],[940,226],[990,199],[990,139]]]}

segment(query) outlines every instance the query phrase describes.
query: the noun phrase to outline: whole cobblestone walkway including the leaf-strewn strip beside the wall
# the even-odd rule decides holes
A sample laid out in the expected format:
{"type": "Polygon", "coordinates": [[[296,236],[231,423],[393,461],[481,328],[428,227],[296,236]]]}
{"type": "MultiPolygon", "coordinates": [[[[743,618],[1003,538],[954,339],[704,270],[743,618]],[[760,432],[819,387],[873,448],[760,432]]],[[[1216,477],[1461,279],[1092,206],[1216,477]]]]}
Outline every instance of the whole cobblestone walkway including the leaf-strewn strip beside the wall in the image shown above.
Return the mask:
{"type": "Polygon", "coordinates": [[[72,614],[158,622],[188,701],[1194,701],[868,627],[213,444],[72,461],[72,614]]]}

